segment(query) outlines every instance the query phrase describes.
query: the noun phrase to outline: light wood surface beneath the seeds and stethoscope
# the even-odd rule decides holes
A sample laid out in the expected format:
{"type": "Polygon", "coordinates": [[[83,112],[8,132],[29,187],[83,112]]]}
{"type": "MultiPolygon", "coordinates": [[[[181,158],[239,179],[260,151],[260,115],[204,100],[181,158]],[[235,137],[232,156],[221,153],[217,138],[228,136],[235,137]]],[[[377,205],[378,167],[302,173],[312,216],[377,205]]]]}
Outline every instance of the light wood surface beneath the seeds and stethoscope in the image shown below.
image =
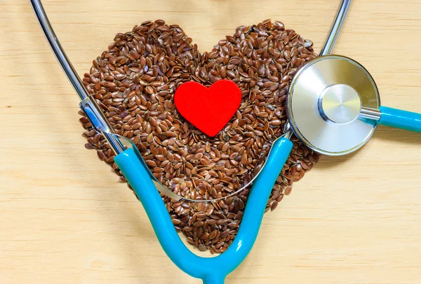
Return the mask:
{"type": "MultiPolygon", "coordinates": [[[[117,32],[180,24],[210,48],[283,21],[320,50],[339,1],[58,1],[44,6],[80,75],[117,32]]],[[[78,98],[29,1],[0,2],[0,283],[201,283],[159,246],[145,211],[83,147],[78,98]]],[[[354,1],[334,52],[361,62],[382,104],[421,112],[421,1],[354,1]]],[[[234,283],[421,283],[421,135],[378,127],[322,157],[265,215],[234,283]]]]}

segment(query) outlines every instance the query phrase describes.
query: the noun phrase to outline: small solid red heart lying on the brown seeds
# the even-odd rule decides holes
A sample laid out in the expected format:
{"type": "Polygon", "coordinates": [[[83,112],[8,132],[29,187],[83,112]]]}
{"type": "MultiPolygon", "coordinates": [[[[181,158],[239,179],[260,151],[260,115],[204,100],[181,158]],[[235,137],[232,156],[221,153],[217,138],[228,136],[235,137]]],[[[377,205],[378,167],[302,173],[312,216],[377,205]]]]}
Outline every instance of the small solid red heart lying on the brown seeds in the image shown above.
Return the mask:
{"type": "Polygon", "coordinates": [[[192,125],[210,137],[232,118],[241,104],[241,90],[230,80],[219,80],[210,87],[191,81],[174,94],[175,107],[192,125]]]}

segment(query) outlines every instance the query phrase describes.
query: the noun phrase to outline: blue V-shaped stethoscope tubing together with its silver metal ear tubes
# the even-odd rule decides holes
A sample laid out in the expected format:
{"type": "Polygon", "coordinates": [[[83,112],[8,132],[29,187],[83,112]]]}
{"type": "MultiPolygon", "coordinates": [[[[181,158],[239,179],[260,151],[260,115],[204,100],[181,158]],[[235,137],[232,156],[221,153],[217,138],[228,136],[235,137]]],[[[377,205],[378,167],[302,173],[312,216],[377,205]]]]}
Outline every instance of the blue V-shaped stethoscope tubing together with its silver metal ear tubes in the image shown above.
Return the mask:
{"type": "MultiPolygon", "coordinates": [[[[224,283],[225,277],[241,264],[251,248],[253,248],[263,214],[265,213],[267,200],[272,192],[276,178],[278,178],[283,164],[285,164],[293,148],[293,143],[289,141],[291,133],[287,132],[284,136],[274,141],[267,162],[258,178],[254,181],[252,190],[250,190],[239,232],[236,234],[236,238],[231,246],[229,246],[225,253],[222,253],[218,257],[199,257],[194,255],[182,243],[175,231],[161,195],[156,190],[154,182],[147,173],[146,165],[142,164],[135,150],[132,148],[124,150],[125,148],[121,141],[112,132],[112,128],[109,127],[107,120],[104,118],[98,105],[96,105],[95,100],[90,99],[79,76],[77,76],[64,50],[62,50],[51,24],[48,22],[41,2],[39,0],[30,0],[30,2],[58,62],[82,100],[81,108],[90,118],[95,129],[105,136],[114,152],[116,152],[114,162],[119,166],[119,169],[142,202],[163,250],[174,264],[190,276],[201,278],[203,283],[207,284],[224,283]]],[[[345,20],[350,2],[350,0],[342,1],[335,24],[330,31],[328,41],[326,41],[325,46],[328,50],[333,48],[340,27],[345,20]]]]}

